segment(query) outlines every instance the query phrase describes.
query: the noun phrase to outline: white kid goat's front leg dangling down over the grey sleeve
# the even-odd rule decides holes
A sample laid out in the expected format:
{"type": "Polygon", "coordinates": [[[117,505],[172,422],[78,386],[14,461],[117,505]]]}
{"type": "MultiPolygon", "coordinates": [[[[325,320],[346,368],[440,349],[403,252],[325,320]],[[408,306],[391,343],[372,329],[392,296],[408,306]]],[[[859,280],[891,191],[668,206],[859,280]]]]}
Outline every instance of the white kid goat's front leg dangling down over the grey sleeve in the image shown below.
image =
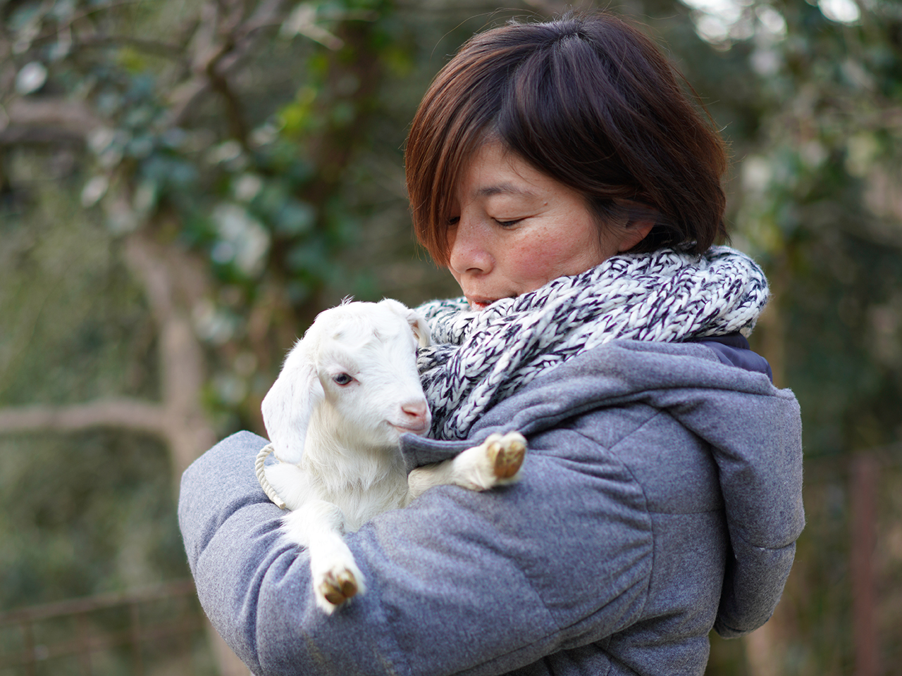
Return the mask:
{"type": "Polygon", "coordinates": [[[347,548],[345,515],[325,500],[308,500],[282,519],[286,537],[310,554],[310,573],[317,605],[329,615],[366,590],[364,575],[347,548]]]}

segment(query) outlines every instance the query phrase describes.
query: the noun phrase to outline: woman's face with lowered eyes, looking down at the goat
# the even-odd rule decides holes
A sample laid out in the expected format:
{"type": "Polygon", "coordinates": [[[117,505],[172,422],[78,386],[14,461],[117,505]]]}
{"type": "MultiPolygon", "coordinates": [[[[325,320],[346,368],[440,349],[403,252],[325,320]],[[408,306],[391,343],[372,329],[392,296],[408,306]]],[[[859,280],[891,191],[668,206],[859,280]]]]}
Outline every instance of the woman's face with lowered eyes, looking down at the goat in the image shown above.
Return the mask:
{"type": "Polygon", "coordinates": [[[474,310],[593,268],[651,227],[600,229],[580,193],[500,142],[474,154],[451,216],[448,269],[474,310]]]}

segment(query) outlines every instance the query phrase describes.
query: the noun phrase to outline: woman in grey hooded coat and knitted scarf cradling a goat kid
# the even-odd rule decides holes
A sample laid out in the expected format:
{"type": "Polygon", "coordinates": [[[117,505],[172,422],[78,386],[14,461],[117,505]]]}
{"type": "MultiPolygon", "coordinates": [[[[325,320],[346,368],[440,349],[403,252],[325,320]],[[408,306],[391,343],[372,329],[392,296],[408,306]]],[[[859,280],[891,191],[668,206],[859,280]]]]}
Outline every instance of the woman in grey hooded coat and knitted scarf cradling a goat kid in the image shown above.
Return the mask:
{"type": "Polygon", "coordinates": [[[798,407],[750,352],[767,299],[723,232],[723,144],[610,14],[476,36],[406,151],[419,239],[464,297],[421,309],[429,439],[520,430],[519,483],[429,490],[347,536],[327,617],[236,434],[179,519],[213,624],[256,674],[700,674],[775,607],[803,525],[798,407]]]}

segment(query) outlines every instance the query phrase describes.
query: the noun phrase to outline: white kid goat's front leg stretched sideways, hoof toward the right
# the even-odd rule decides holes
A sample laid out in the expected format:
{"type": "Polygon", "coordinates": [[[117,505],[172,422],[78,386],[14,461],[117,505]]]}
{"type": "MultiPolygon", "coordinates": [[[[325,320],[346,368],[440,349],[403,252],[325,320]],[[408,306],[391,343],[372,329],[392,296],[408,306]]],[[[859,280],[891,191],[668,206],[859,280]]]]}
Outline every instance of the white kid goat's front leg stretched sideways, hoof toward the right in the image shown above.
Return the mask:
{"type": "Polygon", "coordinates": [[[486,490],[520,479],[526,439],[519,432],[491,434],[483,443],[455,458],[412,470],[407,478],[409,501],[433,486],[454,484],[486,490]]]}

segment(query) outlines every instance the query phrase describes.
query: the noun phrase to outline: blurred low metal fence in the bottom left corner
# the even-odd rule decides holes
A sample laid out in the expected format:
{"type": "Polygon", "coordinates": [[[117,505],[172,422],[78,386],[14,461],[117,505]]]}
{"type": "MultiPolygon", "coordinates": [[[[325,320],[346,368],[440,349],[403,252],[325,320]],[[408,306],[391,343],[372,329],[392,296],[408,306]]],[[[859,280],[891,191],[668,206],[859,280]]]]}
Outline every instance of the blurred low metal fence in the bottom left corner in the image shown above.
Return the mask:
{"type": "Polygon", "coordinates": [[[214,673],[192,580],[0,614],[0,676],[214,673]]]}

